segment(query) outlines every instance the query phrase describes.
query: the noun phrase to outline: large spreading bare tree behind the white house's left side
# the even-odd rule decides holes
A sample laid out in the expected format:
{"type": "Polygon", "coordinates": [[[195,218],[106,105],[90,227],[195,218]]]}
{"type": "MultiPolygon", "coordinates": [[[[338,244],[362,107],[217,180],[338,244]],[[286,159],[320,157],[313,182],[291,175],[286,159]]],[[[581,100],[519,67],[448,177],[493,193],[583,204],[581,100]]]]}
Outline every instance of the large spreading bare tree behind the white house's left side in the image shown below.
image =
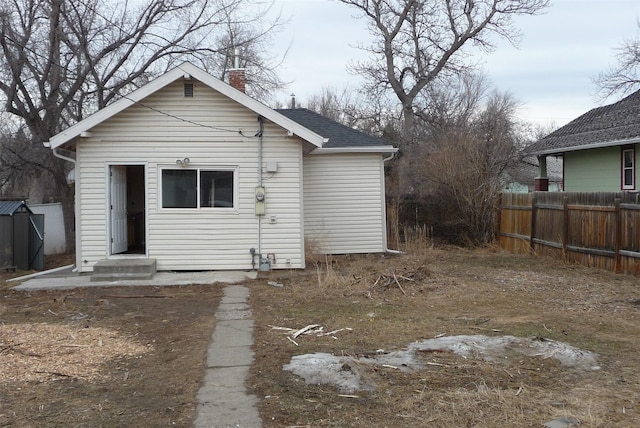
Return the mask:
{"type": "MultiPolygon", "coordinates": [[[[237,35],[264,16],[264,10],[252,14],[250,3],[6,0],[0,5],[0,91],[5,110],[25,124],[28,141],[16,153],[55,184],[68,248],[73,247],[74,218],[69,165],[35,150],[34,143],[48,141],[182,61],[210,64],[211,57],[228,55],[228,46],[218,45],[224,35],[230,29],[237,35]]],[[[272,27],[247,30],[253,36],[242,43],[251,47],[272,27]]],[[[258,52],[255,63],[266,58],[258,52]]]]}

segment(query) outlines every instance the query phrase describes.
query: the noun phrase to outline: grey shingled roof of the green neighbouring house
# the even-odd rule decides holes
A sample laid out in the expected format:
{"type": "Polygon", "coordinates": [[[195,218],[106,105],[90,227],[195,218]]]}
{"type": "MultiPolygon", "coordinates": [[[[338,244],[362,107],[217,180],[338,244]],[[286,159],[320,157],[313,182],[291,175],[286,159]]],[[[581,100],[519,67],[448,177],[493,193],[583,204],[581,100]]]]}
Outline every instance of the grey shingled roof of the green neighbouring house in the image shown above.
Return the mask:
{"type": "Polygon", "coordinates": [[[554,154],[640,143],[640,91],[597,107],[532,144],[532,154],[554,154]]]}

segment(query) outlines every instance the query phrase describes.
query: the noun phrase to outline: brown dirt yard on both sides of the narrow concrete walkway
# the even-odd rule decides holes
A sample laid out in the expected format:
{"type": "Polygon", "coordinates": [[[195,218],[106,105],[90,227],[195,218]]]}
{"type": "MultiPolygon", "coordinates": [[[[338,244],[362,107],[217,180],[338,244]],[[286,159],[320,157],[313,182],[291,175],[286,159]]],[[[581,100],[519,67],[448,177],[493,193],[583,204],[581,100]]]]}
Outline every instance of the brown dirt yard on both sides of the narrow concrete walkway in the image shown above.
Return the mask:
{"type": "MultiPolygon", "coordinates": [[[[25,293],[7,276],[0,426],[192,425],[223,286],[25,293]]],[[[247,285],[247,386],[265,427],[640,426],[637,278],[448,248],[318,259],[247,285]],[[464,355],[412,345],[458,335],[471,338],[464,355]],[[505,337],[526,342],[487,349],[484,338],[505,337]],[[531,352],[549,344],[597,361],[531,352]],[[409,350],[411,362],[396,358],[409,350]],[[360,386],[283,369],[318,353],[339,364],[321,371],[360,386]]]]}

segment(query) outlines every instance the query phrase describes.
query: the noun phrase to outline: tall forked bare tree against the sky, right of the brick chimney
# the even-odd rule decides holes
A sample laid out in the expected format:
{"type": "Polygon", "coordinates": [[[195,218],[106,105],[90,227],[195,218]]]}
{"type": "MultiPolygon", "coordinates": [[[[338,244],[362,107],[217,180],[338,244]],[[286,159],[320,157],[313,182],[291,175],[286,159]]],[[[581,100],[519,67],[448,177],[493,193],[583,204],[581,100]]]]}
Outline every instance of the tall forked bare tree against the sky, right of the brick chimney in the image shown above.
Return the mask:
{"type": "Polygon", "coordinates": [[[414,130],[414,102],[439,76],[470,68],[465,48],[493,48],[492,36],[518,37],[511,18],[535,14],[549,0],[340,0],[368,20],[377,41],[363,49],[373,57],[354,69],[370,93],[391,89],[402,105],[404,130],[414,130]]]}

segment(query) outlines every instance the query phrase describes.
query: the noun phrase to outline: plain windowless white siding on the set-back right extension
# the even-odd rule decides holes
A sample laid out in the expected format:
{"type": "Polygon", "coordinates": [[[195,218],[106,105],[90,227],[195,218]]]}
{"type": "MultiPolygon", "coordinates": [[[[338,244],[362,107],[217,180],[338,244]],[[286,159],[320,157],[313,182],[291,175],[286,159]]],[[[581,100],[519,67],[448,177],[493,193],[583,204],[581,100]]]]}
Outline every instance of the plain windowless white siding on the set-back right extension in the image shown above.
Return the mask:
{"type": "Polygon", "coordinates": [[[386,250],[380,154],[304,158],[305,238],[328,254],[386,250]]]}

